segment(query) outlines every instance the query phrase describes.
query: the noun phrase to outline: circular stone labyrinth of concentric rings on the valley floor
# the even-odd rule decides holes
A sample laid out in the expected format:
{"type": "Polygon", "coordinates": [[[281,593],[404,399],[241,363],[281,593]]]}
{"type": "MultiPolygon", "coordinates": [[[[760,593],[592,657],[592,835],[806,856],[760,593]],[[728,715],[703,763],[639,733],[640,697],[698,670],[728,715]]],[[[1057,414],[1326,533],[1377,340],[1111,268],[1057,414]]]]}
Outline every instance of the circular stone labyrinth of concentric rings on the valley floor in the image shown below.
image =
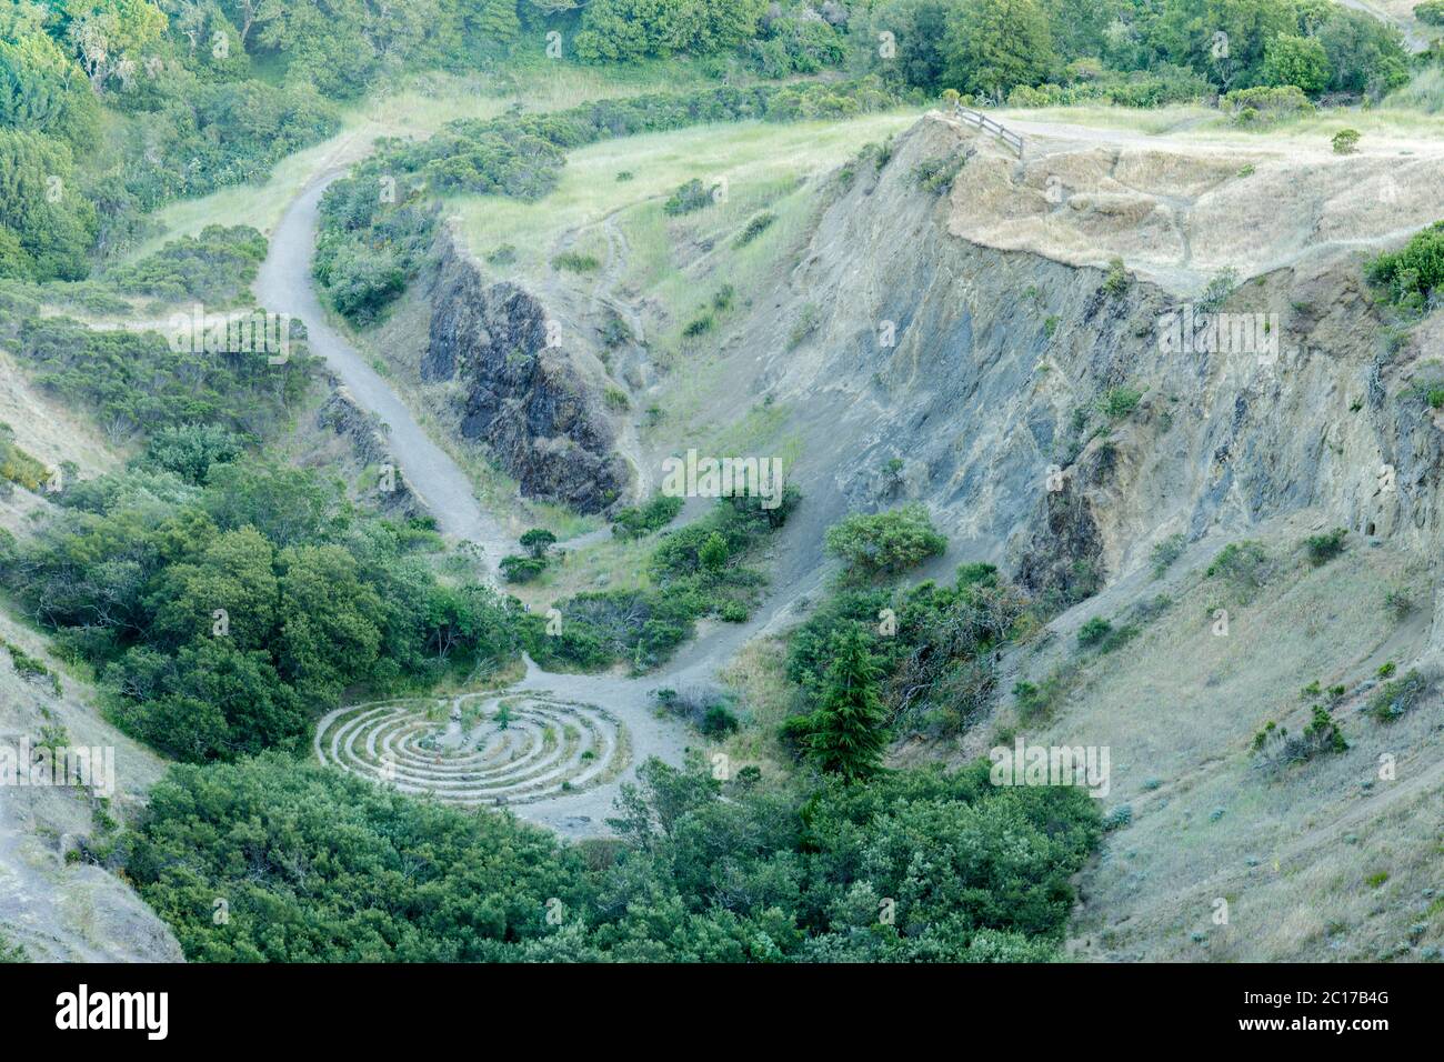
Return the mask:
{"type": "Polygon", "coordinates": [[[611,782],[631,759],[627,728],[547,694],[464,694],[338,708],[316,756],[342,770],[459,805],[530,803],[611,782]]]}

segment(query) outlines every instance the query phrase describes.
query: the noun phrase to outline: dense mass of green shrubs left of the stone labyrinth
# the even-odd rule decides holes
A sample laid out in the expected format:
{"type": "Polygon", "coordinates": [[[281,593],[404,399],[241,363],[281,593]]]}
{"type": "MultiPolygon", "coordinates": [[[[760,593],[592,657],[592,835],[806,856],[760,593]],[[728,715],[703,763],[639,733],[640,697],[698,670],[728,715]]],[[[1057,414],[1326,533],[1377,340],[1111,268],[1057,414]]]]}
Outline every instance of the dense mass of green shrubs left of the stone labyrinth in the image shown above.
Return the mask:
{"type": "Polygon", "coordinates": [[[438,582],[433,532],[196,429],[61,500],[4,584],[95,666],[123,730],[182,760],[297,746],[349,686],[495,669],[531,630],[514,601],[438,582]]]}

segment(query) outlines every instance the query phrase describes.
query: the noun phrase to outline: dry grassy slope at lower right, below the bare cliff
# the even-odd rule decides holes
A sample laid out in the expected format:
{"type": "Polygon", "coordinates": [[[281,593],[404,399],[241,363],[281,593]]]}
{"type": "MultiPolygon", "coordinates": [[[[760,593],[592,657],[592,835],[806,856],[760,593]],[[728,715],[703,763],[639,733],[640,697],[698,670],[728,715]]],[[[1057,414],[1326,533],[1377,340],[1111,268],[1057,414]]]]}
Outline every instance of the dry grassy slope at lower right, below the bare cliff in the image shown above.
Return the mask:
{"type": "MultiPolygon", "coordinates": [[[[1084,668],[1054,717],[1019,733],[1038,744],[1108,746],[1105,803],[1132,809],[1083,877],[1080,955],[1380,959],[1411,933],[1406,955],[1444,942],[1444,916],[1425,893],[1444,871],[1444,834],[1421,813],[1444,787],[1440,698],[1385,725],[1360,714],[1369,692],[1356,692],[1380,665],[1402,672],[1424,649],[1434,581],[1417,561],[1357,540],[1311,568],[1295,549],[1301,533],[1294,523],[1264,536],[1284,571],[1246,604],[1203,575],[1222,545],[1213,542],[1162,582],[1135,579],[1083,603],[1050,644],[1025,655],[1021,675],[1034,681],[1066,660],[1084,668]],[[1383,595],[1401,584],[1417,608],[1396,620],[1383,595]],[[1116,620],[1129,598],[1164,591],[1173,605],[1139,637],[1105,656],[1077,650],[1083,620],[1116,620]],[[1230,611],[1226,637],[1213,633],[1220,605],[1230,611]],[[1321,699],[1300,695],[1313,681],[1349,688],[1333,715],[1352,748],[1259,770],[1252,735],[1269,720],[1302,731],[1321,699]],[[1395,782],[1378,779],[1383,753],[1398,757],[1395,782]],[[1388,877],[1370,884],[1378,874],[1388,877]],[[1229,902],[1226,926],[1213,923],[1219,897],[1229,902]]],[[[1011,712],[999,721],[1014,722],[1011,712]]]]}

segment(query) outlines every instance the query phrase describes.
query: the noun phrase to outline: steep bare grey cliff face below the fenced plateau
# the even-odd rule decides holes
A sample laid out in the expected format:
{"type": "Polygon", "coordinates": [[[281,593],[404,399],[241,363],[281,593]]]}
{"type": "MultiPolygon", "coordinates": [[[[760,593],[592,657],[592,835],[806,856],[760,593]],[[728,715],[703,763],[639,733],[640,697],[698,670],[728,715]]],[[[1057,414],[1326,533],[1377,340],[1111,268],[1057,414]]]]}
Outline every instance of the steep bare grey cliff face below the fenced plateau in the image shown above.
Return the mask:
{"type": "Polygon", "coordinates": [[[1243,535],[1300,510],[1437,545],[1441,438],[1418,387],[1431,340],[1389,341],[1360,273],[1372,247],[1240,269],[1210,302],[1131,272],[1110,280],[953,231],[983,175],[1076,212],[998,152],[930,116],[885,165],[859,165],[732,344],[770,351],[736,371],[794,410],[810,497],[927,501],[969,555],[1074,600],[1165,536],[1243,535]],[[950,192],[921,186],[920,168],[969,152],[950,192]],[[820,324],[780,350],[810,309],[820,324]]]}

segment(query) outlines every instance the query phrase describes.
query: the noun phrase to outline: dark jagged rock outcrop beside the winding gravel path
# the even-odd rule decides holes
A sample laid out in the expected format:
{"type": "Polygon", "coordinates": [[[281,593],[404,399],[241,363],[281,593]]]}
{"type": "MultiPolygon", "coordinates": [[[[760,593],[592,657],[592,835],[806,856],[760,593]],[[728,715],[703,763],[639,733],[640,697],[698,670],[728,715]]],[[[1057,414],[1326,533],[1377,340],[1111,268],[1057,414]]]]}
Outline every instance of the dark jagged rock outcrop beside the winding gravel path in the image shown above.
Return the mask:
{"type": "Polygon", "coordinates": [[[536,298],[488,283],[448,240],[422,379],[459,384],[462,435],[484,442],[523,494],[595,513],[627,491],[627,464],[599,396],[549,338],[536,298]]]}

